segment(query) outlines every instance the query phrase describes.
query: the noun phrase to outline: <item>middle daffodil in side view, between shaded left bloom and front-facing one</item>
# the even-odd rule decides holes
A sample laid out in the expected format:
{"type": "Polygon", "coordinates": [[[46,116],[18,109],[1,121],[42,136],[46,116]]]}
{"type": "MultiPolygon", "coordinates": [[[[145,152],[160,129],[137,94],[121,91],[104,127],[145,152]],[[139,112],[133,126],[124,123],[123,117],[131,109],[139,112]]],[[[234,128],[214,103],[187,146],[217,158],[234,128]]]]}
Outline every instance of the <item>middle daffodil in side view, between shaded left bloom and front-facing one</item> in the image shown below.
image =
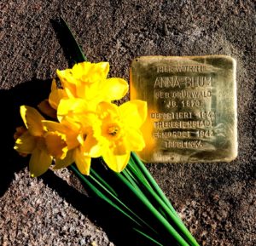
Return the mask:
{"type": "Polygon", "coordinates": [[[91,157],[101,156],[101,124],[96,112],[82,99],[62,99],[57,110],[60,123],[43,121],[49,132],[66,136],[67,156],[55,160],[55,169],[76,163],[82,174],[90,174],[91,157]]]}

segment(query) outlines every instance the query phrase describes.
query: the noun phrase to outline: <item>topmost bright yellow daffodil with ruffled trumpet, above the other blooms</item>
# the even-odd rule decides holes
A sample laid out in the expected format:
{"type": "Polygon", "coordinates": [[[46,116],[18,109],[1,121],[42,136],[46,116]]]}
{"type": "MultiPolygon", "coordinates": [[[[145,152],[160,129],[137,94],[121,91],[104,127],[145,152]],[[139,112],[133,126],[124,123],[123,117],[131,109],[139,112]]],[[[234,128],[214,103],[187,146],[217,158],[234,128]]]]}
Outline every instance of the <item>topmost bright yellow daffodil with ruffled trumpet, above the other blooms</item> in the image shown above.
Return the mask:
{"type": "Polygon", "coordinates": [[[128,83],[119,77],[108,78],[109,63],[81,62],[72,69],[57,70],[61,89],[53,82],[49,104],[55,109],[62,98],[81,98],[90,104],[90,110],[102,101],[119,100],[128,91],[128,83]]]}

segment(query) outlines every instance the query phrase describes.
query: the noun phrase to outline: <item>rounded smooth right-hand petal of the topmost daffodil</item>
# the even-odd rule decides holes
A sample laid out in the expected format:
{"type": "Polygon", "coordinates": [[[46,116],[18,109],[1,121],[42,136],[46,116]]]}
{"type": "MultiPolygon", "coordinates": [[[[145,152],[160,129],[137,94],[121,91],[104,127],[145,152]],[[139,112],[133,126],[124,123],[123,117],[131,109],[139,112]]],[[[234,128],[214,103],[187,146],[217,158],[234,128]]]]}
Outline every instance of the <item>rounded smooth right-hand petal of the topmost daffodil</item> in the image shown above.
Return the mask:
{"type": "Polygon", "coordinates": [[[119,77],[108,78],[102,85],[102,97],[105,100],[119,100],[128,92],[129,86],[125,79],[119,77]]]}

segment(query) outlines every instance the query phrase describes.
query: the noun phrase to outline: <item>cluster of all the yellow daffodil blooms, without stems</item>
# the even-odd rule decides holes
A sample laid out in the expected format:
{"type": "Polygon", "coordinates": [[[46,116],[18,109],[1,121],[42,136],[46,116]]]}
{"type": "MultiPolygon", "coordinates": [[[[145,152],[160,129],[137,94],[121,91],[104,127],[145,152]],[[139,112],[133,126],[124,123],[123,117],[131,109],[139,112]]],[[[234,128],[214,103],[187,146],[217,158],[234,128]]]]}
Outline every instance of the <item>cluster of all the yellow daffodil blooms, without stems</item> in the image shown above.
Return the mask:
{"type": "Polygon", "coordinates": [[[141,100],[112,104],[112,100],[125,96],[128,83],[108,78],[108,71],[108,62],[81,62],[72,69],[57,70],[59,86],[54,79],[49,99],[38,105],[57,122],[45,120],[32,107],[20,107],[26,129],[15,134],[15,150],[32,154],[33,176],[43,174],[52,160],[54,169],[74,162],[82,174],[90,174],[91,158],[101,156],[110,169],[120,172],[131,151],[143,149],[140,128],[147,105],[141,100]]]}

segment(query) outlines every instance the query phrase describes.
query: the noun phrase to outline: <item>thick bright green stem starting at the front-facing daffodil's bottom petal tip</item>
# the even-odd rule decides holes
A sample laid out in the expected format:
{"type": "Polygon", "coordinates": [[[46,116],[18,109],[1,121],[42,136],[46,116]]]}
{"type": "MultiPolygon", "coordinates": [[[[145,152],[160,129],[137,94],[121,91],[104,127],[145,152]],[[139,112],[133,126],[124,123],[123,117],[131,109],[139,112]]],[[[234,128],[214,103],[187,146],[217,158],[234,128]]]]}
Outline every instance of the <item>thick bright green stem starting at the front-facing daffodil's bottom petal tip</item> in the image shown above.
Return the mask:
{"type": "Polygon", "coordinates": [[[142,192],[138,192],[137,189],[135,189],[131,183],[128,180],[125,180],[125,177],[122,174],[115,173],[117,177],[119,177],[119,180],[121,180],[125,186],[127,186],[131,192],[133,192],[136,197],[146,206],[146,208],[154,215],[154,217],[159,220],[166,229],[167,232],[169,232],[172,237],[174,237],[177,240],[177,243],[179,243],[182,246],[189,246],[189,243],[187,243],[183,237],[181,237],[178,232],[169,224],[169,222],[165,219],[163,215],[160,214],[160,212],[154,208],[154,206],[148,201],[148,199],[142,195],[142,192]]]}

